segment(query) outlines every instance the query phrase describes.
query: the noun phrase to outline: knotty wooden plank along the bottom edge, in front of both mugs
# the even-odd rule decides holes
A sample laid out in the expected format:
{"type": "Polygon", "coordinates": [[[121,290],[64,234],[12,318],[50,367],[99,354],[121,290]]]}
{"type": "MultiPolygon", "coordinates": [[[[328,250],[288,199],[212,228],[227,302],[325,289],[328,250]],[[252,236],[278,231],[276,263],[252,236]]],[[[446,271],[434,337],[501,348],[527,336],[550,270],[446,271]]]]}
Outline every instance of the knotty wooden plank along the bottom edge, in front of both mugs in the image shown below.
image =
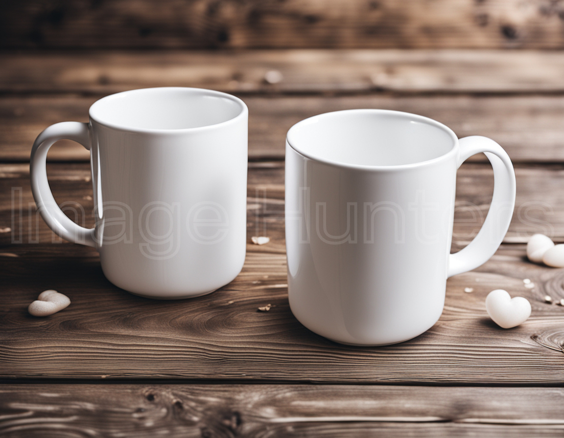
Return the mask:
{"type": "Polygon", "coordinates": [[[562,436],[563,398],[562,388],[20,383],[0,388],[0,434],[562,436]]]}

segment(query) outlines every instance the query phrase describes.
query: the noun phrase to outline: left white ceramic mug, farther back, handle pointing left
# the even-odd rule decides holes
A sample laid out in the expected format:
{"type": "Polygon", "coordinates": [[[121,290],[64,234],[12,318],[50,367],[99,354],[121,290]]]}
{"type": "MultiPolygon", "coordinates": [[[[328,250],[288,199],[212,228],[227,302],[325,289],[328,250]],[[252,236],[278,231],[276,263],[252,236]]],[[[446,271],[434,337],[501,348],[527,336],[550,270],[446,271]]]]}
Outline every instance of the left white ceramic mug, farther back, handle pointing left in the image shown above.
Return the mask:
{"type": "Polygon", "coordinates": [[[187,298],[239,274],[246,249],[248,109],[199,88],[147,88],[104,97],[90,123],[45,129],[31,155],[33,196],[51,229],[98,249],[105,276],[151,298],[187,298]],[[90,150],[95,227],[71,221],[47,182],[51,145],[90,150]]]}

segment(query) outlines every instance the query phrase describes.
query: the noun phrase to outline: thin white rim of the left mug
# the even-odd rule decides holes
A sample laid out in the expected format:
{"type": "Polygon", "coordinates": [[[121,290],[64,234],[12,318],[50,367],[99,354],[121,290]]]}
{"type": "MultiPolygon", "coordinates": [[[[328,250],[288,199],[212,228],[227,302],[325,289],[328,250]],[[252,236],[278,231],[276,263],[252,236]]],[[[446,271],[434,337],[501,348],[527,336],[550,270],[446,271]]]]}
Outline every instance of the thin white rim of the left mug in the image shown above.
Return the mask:
{"type": "Polygon", "coordinates": [[[182,134],[182,133],[188,133],[188,132],[198,132],[198,131],[206,131],[206,130],[209,130],[209,129],[215,129],[215,128],[218,128],[218,127],[226,126],[227,124],[235,123],[239,119],[245,117],[245,115],[247,115],[248,113],[249,113],[249,109],[247,108],[245,102],[243,100],[239,99],[239,97],[230,95],[228,93],[224,93],[222,91],[208,90],[207,88],[196,88],[196,87],[135,88],[135,90],[121,91],[121,92],[118,92],[118,93],[113,93],[111,95],[104,96],[104,97],[96,100],[92,105],[90,105],[90,108],[88,110],[88,115],[89,115],[89,118],[90,118],[91,121],[93,120],[94,122],[96,122],[96,123],[98,123],[102,126],[105,126],[107,128],[117,129],[118,131],[131,132],[131,133],[162,134],[162,135],[170,135],[170,134],[174,135],[174,134],[182,134]],[[236,102],[236,104],[239,104],[240,111],[235,117],[232,117],[231,119],[225,120],[224,122],[209,124],[209,125],[205,125],[205,126],[198,126],[198,127],[194,127],[194,128],[180,128],[180,129],[133,128],[133,127],[123,126],[123,125],[120,125],[118,123],[102,121],[102,119],[100,119],[97,115],[96,116],[92,115],[92,111],[96,110],[96,106],[99,104],[99,102],[117,99],[118,96],[130,95],[130,94],[134,94],[134,93],[143,93],[143,92],[148,92],[148,91],[173,91],[173,90],[190,91],[192,93],[204,92],[208,96],[224,97],[226,99],[232,100],[233,102],[236,102]]]}

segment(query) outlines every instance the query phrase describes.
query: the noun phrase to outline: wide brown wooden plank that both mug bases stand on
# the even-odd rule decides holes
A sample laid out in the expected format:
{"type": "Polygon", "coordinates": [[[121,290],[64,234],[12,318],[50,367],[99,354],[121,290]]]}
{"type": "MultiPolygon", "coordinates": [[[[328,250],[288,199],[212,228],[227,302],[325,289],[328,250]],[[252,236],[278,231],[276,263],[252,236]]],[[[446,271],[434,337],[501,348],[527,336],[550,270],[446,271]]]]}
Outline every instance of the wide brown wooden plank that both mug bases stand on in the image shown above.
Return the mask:
{"type": "Polygon", "coordinates": [[[562,272],[501,248],[479,271],[448,280],[444,312],[421,336],[387,347],[337,345],[292,316],[284,254],[247,254],[241,274],[206,297],[155,301],[105,280],[97,254],[77,245],[12,245],[0,275],[0,378],[187,378],[243,381],[562,385],[562,272]],[[522,278],[534,279],[536,289],[522,278]],[[472,287],[472,293],[465,293],[472,287]],[[71,304],[27,314],[43,289],[71,304]],[[531,301],[526,324],[504,330],[486,315],[488,292],[531,301]],[[257,308],[273,305],[268,312],[257,308]]]}

